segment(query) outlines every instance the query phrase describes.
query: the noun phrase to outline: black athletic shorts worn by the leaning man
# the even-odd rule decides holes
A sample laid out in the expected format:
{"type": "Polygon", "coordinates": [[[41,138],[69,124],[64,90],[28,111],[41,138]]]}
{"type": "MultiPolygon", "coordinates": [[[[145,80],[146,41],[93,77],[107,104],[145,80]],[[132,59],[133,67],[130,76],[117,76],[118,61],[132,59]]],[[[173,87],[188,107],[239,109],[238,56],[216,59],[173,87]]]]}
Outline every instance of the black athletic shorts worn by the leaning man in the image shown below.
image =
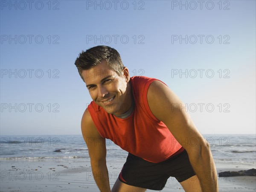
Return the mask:
{"type": "Polygon", "coordinates": [[[128,154],[119,174],[122,183],[151,190],[162,190],[169,177],[182,182],[195,175],[184,149],[179,154],[160,163],[151,163],[133,154],[128,154]]]}

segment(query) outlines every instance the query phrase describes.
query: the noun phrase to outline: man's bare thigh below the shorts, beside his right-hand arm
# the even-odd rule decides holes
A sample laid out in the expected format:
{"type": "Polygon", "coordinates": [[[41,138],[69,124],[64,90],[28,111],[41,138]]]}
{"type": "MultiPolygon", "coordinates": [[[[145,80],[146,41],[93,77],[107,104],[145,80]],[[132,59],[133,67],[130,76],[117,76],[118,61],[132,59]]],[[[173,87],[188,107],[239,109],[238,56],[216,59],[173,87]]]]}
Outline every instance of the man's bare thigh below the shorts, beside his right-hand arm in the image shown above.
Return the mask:
{"type": "Polygon", "coordinates": [[[201,185],[196,175],[180,182],[185,192],[201,192],[201,185]]]}

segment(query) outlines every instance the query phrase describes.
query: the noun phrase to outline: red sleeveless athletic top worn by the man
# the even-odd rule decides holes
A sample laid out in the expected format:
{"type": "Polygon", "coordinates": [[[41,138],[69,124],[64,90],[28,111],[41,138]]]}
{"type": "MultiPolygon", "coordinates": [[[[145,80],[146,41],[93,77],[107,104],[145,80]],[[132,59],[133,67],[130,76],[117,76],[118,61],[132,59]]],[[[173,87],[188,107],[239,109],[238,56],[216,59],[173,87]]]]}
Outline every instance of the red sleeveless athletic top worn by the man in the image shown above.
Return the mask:
{"type": "Polygon", "coordinates": [[[125,151],[144,160],[159,163],[183,151],[183,148],[166,125],[150,111],[147,92],[155,80],[144,76],[131,77],[135,106],[125,119],[107,113],[93,101],[88,110],[103,138],[112,140],[125,151]]]}

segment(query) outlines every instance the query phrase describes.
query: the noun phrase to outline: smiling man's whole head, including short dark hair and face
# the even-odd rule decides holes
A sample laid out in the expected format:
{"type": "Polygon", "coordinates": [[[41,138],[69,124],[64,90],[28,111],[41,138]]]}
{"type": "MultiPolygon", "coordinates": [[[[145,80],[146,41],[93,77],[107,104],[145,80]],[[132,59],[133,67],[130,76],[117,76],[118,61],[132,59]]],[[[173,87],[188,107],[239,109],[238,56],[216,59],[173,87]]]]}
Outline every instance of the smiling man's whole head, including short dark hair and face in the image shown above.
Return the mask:
{"type": "Polygon", "coordinates": [[[107,113],[125,113],[131,107],[130,75],[119,53],[107,46],[82,52],[76,59],[79,74],[93,101],[107,113]]]}

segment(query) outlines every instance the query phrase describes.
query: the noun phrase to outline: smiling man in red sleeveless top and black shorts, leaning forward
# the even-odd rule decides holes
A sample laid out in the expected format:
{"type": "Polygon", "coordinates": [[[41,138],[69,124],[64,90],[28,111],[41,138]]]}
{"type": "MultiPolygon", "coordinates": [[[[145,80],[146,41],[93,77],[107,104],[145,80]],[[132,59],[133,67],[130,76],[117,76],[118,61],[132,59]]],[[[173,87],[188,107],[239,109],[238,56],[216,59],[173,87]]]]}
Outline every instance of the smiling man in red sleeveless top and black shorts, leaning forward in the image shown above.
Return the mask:
{"type": "Polygon", "coordinates": [[[209,145],[166,84],[130,77],[119,53],[107,46],[81,52],[75,64],[93,99],[81,131],[101,192],[111,191],[108,178],[97,176],[108,175],[105,138],[129,152],[112,192],[161,190],[171,176],[186,192],[218,191],[209,145]]]}

